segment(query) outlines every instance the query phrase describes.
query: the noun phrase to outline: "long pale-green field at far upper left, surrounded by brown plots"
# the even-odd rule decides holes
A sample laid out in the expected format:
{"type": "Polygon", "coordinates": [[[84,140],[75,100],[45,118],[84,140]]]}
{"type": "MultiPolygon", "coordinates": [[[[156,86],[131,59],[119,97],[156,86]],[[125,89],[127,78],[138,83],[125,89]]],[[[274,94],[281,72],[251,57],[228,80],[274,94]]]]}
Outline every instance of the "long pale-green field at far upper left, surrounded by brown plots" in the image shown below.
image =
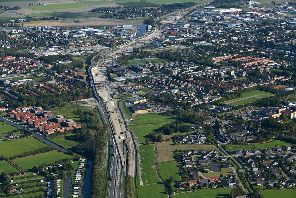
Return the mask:
{"type": "Polygon", "coordinates": [[[36,10],[55,10],[55,9],[80,8],[80,7],[86,7],[86,6],[80,3],[68,3],[68,4],[33,5],[25,8],[36,9],[36,10]]]}

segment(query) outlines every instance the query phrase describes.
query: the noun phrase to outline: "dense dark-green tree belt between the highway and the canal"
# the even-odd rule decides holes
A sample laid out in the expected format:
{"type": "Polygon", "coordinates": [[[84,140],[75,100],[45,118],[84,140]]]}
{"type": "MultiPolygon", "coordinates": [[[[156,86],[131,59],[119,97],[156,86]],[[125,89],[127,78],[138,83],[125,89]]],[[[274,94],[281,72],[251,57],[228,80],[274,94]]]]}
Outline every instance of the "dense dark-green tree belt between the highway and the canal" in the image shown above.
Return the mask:
{"type": "Polygon", "coordinates": [[[90,198],[103,197],[106,193],[104,190],[106,177],[103,172],[104,150],[109,126],[102,126],[96,109],[79,112],[79,117],[85,124],[76,131],[78,139],[82,142],[75,147],[75,153],[80,153],[93,160],[90,198]]]}

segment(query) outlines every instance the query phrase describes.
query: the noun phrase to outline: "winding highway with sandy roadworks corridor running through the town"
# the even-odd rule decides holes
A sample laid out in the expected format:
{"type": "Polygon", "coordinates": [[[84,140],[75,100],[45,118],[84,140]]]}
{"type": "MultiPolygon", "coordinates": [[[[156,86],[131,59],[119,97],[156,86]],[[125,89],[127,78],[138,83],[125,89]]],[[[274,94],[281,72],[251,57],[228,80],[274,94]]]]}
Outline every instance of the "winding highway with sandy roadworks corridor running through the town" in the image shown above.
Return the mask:
{"type": "Polygon", "coordinates": [[[110,168],[110,175],[112,175],[112,180],[110,181],[110,186],[108,190],[109,198],[122,197],[122,174],[131,175],[134,178],[136,186],[139,156],[133,134],[127,129],[126,122],[124,121],[123,114],[117,104],[117,100],[112,100],[110,97],[109,91],[113,90],[112,85],[116,85],[116,83],[109,82],[106,78],[97,78],[98,76],[106,76],[104,75],[106,71],[104,70],[105,68],[102,66],[102,64],[111,63],[113,61],[112,57],[114,57],[116,53],[118,54],[118,52],[122,51],[125,48],[127,49],[128,47],[140,46],[141,43],[152,41],[154,37],[159,36],[161,34],[161,31],[157,28],[157,20],[166,18],[174,14],[185,15],[186,12],[209,3],[210,2],[195,5],[193,7],[171,12],[167,15],[155,18],[153,30],[149,34],[139,37],[139,39],[135,39],[132,42],[126,42],[122,45],[103,50],[91,58],[91,65],[88,69],[90,86],[93,89],[93,95],[98,103],[100,112],[102,112],[101,116],[104,118],[105,122],[110,125],[109,135],[112,144],[114,145],[114,149],[112,149],[112,152],[114,152],[114,157],[110,168]],[[95,63],[95,60],[99,57],[104,57],[104,59],[99,59],[95,63]],[[98,72],[100,72],[100,74],[98,74],[98,72]],[[101,83],[104,85],[101,86],[101,90],[98,90],[98,88],[96,87],[97,83],[101,83]]]}

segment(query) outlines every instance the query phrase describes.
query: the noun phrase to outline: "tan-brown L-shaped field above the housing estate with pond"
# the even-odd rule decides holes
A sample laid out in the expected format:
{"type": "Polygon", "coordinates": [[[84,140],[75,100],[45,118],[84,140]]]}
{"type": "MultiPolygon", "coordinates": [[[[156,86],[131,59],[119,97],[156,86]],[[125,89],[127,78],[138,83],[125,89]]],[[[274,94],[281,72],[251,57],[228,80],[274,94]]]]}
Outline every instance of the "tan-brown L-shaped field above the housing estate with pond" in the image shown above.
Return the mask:
{"type": "Polygon", "coordinates": [[[174,151],[176,149],[182,150],[182,151],[191,151],[194,149],[202,150],[205,149],[207,151],[210,151],[212,149],[216,149],[214,145],[207,145],[207,144],[172,144],[172,141],[166,141],[166,142],[159,142],[156,143],[156,149],[157,149],[157,162],[167,162],[167,161],[173,161],[174,158],[174,151]]]}

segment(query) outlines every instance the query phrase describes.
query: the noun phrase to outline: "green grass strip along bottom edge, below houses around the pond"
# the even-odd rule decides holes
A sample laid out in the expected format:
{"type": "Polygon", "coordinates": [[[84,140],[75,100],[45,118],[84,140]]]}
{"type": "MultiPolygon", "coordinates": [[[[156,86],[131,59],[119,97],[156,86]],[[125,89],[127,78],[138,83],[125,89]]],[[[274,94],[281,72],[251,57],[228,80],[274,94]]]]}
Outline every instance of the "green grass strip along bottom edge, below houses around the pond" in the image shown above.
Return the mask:
{"type": "Polygon", "coordinates": [[[207,189],[201,191],[193,191],[188,193],[176,194],[174,198],[225,198],[230,196],[231,188],[224,189],[207,189]]]}

